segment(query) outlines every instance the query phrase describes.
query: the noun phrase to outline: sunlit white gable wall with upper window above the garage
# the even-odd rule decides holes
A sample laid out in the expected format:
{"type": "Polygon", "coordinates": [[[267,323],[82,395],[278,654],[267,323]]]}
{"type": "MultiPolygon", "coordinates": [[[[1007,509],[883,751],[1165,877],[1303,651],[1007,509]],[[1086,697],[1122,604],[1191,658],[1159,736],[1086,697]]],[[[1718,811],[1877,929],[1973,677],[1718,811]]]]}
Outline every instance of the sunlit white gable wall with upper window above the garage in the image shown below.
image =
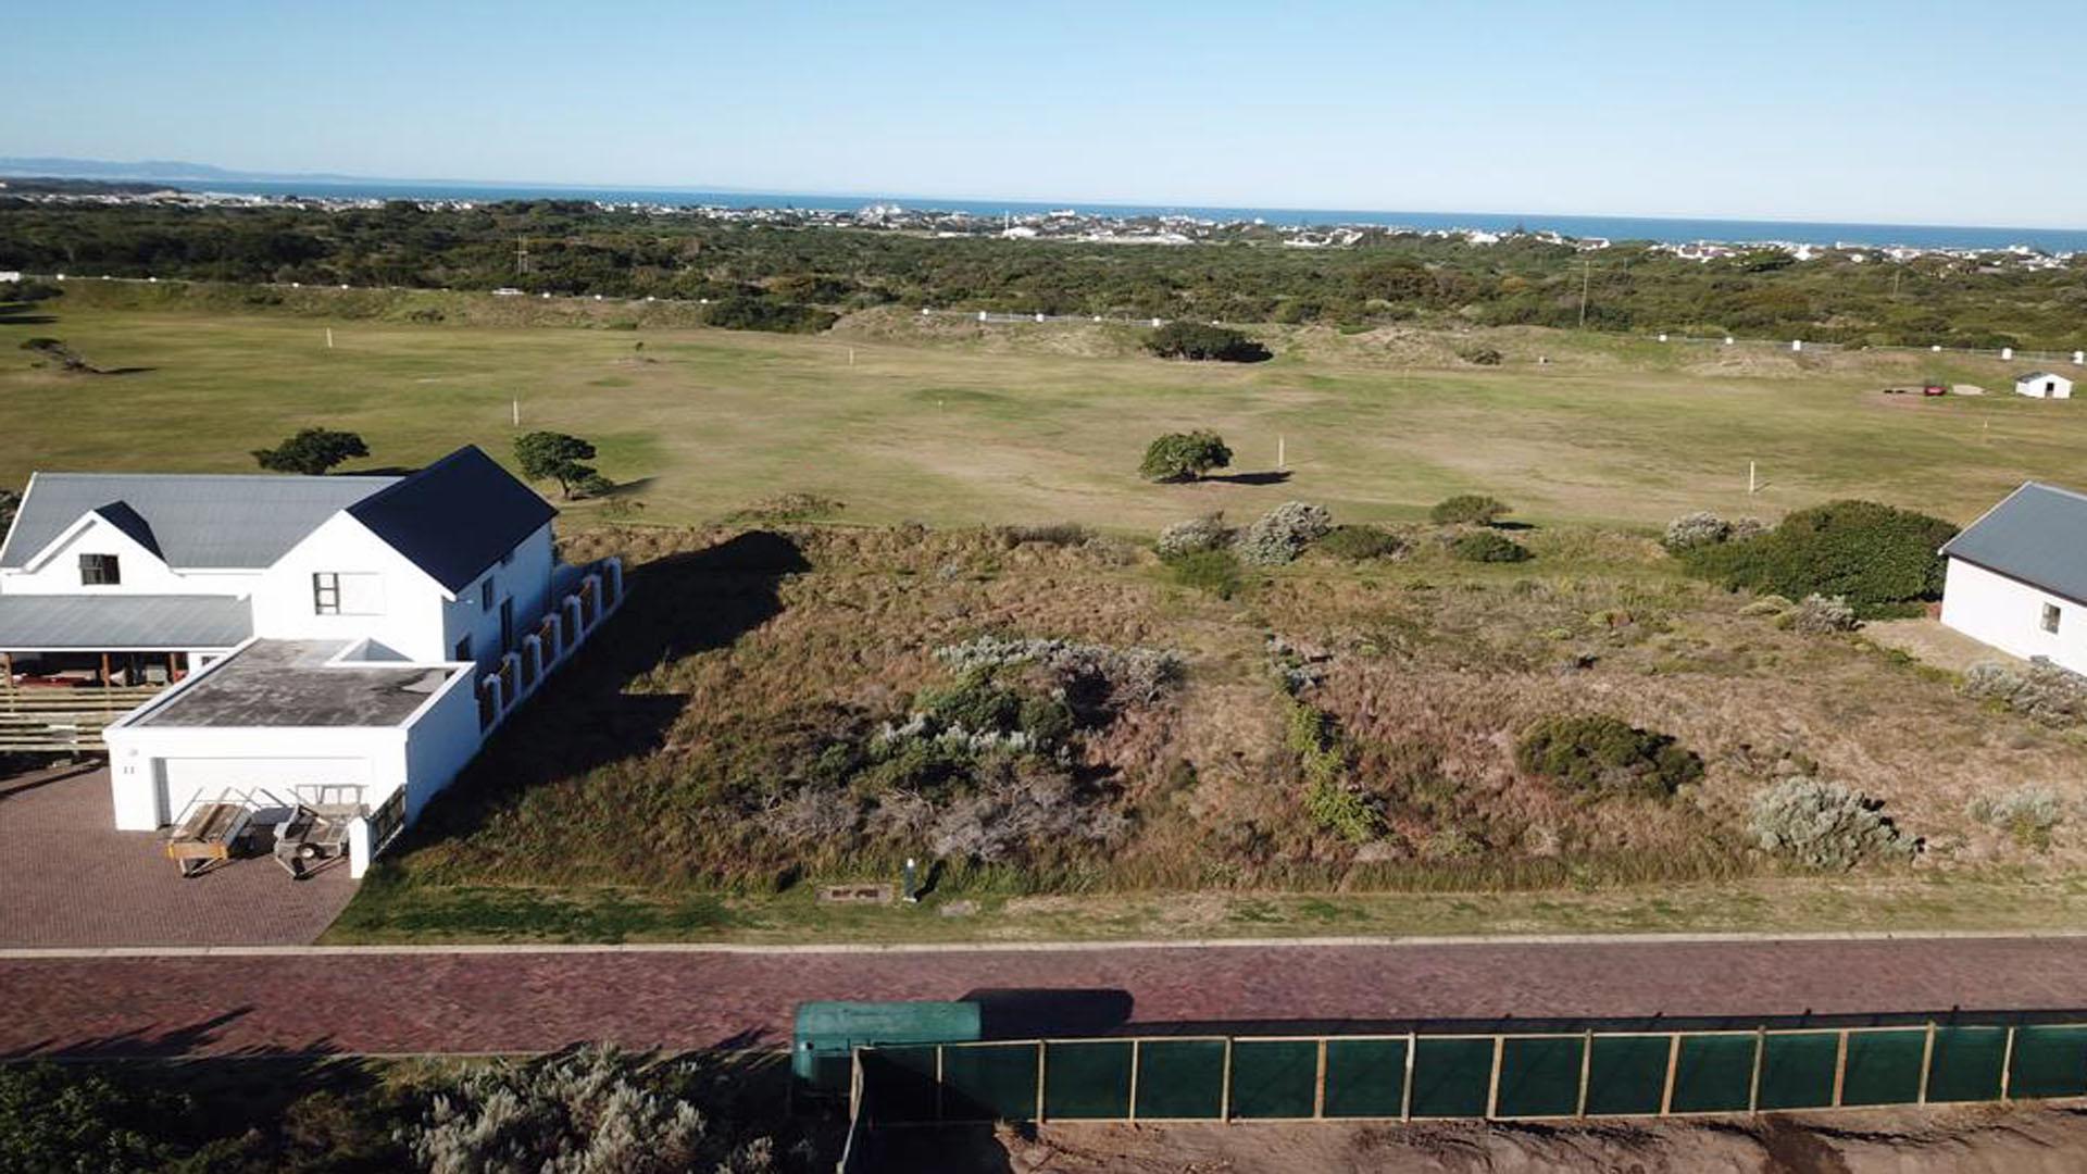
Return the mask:
{"type": "Polygon", "coordinates": [[[334,514],[267,568],[255,589],[255,635],[269,639],[374,639],[407,660],[449,660],[442,641],[442,587],[351,514],[334,514]],[[380,585],[374,614],[321,616],[313,608],[317,572],[371,574],[380,585]]]}

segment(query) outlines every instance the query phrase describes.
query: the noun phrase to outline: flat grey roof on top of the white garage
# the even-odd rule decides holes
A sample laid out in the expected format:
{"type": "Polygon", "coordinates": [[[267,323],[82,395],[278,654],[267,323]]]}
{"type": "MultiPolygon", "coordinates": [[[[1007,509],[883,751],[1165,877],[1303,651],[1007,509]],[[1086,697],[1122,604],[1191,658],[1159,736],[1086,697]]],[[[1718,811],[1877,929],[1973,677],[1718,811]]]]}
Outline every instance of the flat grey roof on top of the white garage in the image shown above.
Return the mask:
{"type": "Polygon", "coordinates": [[[328,664],[353,641],[257,639],[194,677],[131,725],[388,727],[403,725],[453,673],[428,664],[328,664]]]}

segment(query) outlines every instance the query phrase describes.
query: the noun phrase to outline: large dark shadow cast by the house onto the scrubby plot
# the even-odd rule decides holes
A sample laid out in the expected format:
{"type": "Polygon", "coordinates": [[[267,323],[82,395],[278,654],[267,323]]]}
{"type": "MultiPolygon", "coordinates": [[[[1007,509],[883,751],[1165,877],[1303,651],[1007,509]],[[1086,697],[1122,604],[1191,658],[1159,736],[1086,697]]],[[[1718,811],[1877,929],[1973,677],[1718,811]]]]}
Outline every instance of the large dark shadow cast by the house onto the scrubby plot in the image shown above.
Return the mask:
{"type": "Polygon", "coordinates": [[[672,666],[778,616],[783,581],[806,570],[795,539],[772,531],[632,566],[622,610],[486,742],[407,846],[470,836],[530,788],[659,750],[689,706],[672,666]]]}

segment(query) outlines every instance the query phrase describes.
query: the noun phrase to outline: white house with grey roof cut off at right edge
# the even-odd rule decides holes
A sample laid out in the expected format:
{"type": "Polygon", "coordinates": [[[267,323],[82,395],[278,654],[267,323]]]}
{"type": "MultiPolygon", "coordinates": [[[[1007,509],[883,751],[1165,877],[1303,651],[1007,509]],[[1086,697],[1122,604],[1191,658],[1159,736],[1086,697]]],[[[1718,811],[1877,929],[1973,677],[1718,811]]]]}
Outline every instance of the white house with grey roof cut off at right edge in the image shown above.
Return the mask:
{"type": "Polygon", "coordinates": [[[2087,495],[2022,485],[1941,554],[1943,625],[2087,673],[2087,495]]]}

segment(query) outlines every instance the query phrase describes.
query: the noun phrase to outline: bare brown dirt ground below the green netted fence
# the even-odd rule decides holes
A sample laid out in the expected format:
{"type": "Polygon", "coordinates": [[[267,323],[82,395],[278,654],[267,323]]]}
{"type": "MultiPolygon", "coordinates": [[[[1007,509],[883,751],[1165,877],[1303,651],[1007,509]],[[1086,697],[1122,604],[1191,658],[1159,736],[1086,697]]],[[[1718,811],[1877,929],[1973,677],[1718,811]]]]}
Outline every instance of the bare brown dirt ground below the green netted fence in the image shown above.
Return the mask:
{"type": "Polygon", "coordinates": [[[2079,1103],[1607,1124],[1056,1124],[893,1134],[872,1170],[1012,1174],[2043,1174],[2087,1166],[2079,1103]]]}

